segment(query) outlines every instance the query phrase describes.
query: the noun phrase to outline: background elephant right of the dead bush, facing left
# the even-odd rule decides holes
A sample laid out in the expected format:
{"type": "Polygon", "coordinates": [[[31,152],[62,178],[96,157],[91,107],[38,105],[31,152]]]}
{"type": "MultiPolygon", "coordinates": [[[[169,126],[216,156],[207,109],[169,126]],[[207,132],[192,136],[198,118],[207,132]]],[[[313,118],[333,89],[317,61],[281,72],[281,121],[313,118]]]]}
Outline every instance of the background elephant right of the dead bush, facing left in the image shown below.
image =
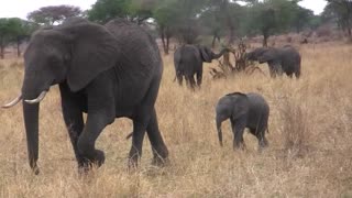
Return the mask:
{"type": "Polygon", "coordinates": [[[293,74],[295,74],[296,78],[300,76],[300,54],[290,45],[280,48],[255,48],[248,53],[245,57],[260,64],[267,63],[272,77],[282,76],[283,73],[289,77],[293,77],[293,74]]]}

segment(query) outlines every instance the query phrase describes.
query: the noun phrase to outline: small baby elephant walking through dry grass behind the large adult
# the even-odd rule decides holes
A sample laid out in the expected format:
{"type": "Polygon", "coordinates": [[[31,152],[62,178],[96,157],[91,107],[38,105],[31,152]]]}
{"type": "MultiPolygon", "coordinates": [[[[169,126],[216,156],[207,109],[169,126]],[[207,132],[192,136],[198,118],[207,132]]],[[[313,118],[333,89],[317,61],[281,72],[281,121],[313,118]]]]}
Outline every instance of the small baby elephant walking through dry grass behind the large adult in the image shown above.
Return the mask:
{"type": "Polygon", "coordinates": [[[265,139],[270,107],[265,99],[254,92],[233,92],[220,98],[216,107],[216,122],[218,138],[222,146],[221,123],[227,119],[231,121],[233,132],[233,148],[244,147],[243,132],[248,128],[256,136],[260,150],[268,145],[265,139]]]}

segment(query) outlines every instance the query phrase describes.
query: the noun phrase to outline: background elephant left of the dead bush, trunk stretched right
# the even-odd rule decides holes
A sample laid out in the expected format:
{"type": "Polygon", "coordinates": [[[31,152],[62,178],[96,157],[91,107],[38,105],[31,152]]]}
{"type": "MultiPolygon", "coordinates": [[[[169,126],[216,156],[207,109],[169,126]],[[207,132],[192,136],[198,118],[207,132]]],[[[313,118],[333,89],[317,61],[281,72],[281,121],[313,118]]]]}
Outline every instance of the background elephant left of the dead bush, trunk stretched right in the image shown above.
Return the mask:
{"type": "Polygon", "coordinates": [[[191,89],[194,89],[196,85],[200,87],[202,63],[211,63],[212,59],[221,57],[226,52],[229,51],[223,48],[219,54],[216,54],[209,47],[189,44],[178,47],[174,54],[175,78],[177,78],[180,86],[185,77],[187,86],[191,89]],[[195,80],[195,75],[197,81],[195,80]]]}

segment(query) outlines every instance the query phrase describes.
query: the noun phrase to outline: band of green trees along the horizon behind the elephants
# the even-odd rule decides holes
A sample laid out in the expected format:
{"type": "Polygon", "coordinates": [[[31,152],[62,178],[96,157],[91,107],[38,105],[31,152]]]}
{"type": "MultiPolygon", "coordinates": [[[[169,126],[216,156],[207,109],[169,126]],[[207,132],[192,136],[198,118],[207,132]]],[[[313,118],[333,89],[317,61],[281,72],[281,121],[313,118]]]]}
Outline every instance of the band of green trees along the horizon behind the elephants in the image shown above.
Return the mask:
{"type": "MultiPolygon", "coordinates": [[[[179,43],[197,43],[201,35],[211,36],[215,47],[221,38],[231,44],[244,36],[263,35],[266,46],[271,35],[315,31],[326,24],[336,24],[351,40],[352,2],[327,1],[320,15],[300,7],[299,0],[97,0],[85,11],[72,6],[44,7],[29,13],[28,20],[0,19],[0,57],[6,46],[20,44],[37,28],[77,15],[98,23],[119,16],[147,26],[162,38],[165,54],[172,37],[179,43]]],[[[18,52],[20,56],[20,48],[18,52]]]]}

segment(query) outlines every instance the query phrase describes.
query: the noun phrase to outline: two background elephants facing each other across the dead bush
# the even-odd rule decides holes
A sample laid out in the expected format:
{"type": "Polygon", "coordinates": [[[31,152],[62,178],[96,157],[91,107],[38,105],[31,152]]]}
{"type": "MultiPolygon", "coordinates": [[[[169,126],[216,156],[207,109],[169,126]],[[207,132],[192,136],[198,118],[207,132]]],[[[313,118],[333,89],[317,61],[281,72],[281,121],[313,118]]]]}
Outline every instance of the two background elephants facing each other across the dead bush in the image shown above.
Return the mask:
{"type": "MultiPolygon", "coordinates": [[[[211,63],[212,59],[221,57],[228,48],[223,48],[219,54],[211,52],[209,47],[196,45],[183,45],[175,51],[174,65],[178,84],[183,84],[183,78],[186,79],[186,85],[191,89],[195,88],[195,75],[197,86],[200,87],[202,78],[202,63],[211,63]]],[[[300,54],[290,45],[285,45],[280,48],[275,47],[258,47],[244,55],[246,61],[258,62],[260,64],[267,63],[271,77],[276,75],[282,76],[284,73],[288,77],[296,78],[300,76],[300,54]]]]}

